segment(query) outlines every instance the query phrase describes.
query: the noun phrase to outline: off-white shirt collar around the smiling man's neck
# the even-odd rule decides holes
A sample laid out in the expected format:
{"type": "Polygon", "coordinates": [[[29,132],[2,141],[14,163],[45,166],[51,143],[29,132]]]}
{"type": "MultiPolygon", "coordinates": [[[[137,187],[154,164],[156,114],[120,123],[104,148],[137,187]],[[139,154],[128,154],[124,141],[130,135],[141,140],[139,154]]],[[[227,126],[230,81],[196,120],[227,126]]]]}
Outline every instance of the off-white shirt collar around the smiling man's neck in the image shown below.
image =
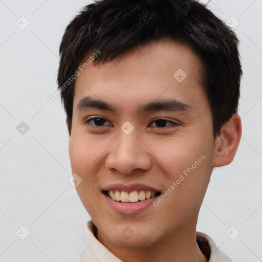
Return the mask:
{"type": "MultiPolygon", "coordinates": [[[[123,262],[97,240],[95,231],[96,226],[90,220],[85,225],[85,246],[76,262],[123,262]]],[[[206,245],[205,248],[211,251],[209,262],[232,262],[229,257],[216,247],[208,235],[197,231],[197,241],[202,252],[203,247],[201,246],[203,245],[206,245]]]]}

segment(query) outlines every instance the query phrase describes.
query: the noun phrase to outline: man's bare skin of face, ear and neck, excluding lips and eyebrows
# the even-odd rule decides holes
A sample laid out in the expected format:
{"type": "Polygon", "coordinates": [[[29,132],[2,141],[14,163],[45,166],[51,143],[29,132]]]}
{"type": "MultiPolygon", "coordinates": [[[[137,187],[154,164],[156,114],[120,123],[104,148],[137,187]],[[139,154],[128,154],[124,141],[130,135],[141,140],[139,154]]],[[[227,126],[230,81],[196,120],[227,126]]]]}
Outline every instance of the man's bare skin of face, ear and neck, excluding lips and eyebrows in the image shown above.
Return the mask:
{"type": "Polygon", "coordinates": [[[76,190],[98,228],[98,240],[125,262],[207,261],[195,238],[198,214],[212,168],[235,156],[241,120],[233,115],[214,139],[199,70],[201,61],[188,46],[160,40],[90,65],[76,79],[69,143],[72,172],[82,179],[76,190]],[[187,74],[182,82],[173,77],[178,69],[187,74]],[[85,96],[104,100],[117,112],[77,110],[85,96]],[[170,98],[191,109],[136,112],[139,104],[170,98]],[[106,121],[85,123],[92,117],[106,121]],[[156,126],[159,118],[167,120],[164,127],[156,126]],[[126,121],[135,127],[129,135],[121,130],[126,121]],[[123,215],[101,193],[112,183],[142,183],[163,193],[202,155],[205,160],[158,207],[123,215]],[[134,233],[128,239],[121,233],[127,226],[134,233]]]}

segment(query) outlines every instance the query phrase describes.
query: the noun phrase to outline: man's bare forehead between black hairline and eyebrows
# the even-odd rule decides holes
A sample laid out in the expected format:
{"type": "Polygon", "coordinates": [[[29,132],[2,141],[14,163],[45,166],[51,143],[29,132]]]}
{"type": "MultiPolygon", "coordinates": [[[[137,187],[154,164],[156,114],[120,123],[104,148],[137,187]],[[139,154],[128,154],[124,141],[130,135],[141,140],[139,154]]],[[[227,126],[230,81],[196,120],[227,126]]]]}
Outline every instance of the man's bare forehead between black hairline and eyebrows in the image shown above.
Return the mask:
{"type": "Polygon", "coordinates": [[[201,71],[200,58],[184,43],[151,42],[84,68],[76,78],[74,110],[84,96],[112,101],[121,110],[158,98],[195,104],[196,96],[206,100],[201,71]]]}

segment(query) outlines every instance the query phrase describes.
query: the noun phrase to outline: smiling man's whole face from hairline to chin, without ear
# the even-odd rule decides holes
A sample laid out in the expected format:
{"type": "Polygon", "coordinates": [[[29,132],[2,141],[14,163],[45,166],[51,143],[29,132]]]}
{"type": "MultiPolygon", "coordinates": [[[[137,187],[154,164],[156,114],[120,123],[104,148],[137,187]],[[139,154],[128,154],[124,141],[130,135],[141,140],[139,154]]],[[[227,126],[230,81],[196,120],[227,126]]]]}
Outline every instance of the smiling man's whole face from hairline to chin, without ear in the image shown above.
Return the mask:
{"type": "Polygon", "coordinates": [[[69,153],[102,242],[149,247],[194,232],[214,155],[201,68],[189,47],[161,40],[77,77],[69,153]]]}

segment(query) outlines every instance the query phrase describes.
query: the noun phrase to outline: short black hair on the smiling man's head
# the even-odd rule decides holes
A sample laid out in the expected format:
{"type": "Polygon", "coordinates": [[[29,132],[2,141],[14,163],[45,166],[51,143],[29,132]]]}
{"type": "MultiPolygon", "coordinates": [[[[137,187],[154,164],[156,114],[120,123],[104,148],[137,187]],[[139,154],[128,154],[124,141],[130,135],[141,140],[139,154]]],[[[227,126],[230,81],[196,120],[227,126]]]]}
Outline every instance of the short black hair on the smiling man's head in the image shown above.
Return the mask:
{"type": "Polygon", "coordinates": [[[194,0],[97,0],[73,18],[62,37],[57,75],[69,134],[75,86],[71,76],[86,56],[99,51],[90,58],[94,65],[103,64],[160,39],[187,43],[199,55],[213,134],[220,134],[237,113],[242,76],[239,41],[224,21],[194,0]]]}

